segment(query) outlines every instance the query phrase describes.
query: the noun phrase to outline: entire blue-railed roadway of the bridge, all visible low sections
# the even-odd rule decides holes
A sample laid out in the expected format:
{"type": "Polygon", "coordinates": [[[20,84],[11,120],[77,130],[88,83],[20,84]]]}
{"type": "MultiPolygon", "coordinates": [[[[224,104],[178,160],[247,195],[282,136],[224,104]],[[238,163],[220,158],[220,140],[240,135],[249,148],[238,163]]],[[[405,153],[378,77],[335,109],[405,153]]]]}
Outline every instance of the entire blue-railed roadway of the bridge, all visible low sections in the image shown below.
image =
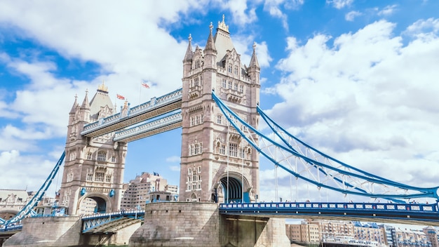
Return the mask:
{"type": "MultiPolygon", "coordinates": [[[[264,218],[311,218],[439,226],[437,204],[339,202],[220,203],[219,214],[264,218]]],[[[81,231],[83,234],[114,233],[118,229],[141,222],[143,218],[143,210],[86,215],[81,218],[81,231]]],[[[1,227],[0,236],[10,236],[12,232],[19,231],[21,227],[22,225],[1,227]]]]}

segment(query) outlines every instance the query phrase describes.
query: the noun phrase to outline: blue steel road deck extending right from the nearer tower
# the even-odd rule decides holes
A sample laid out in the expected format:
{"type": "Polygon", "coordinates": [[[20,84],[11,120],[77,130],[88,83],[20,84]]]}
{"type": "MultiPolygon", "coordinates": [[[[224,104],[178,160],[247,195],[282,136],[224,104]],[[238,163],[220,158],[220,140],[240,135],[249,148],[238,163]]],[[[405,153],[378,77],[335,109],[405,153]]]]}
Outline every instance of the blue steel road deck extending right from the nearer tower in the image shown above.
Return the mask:
{"type": "Polygon", "coordinates": [[[414,203],[222,203],[219,213],[223,215],[267,215],[285,218],[307,218],[319,216],[333,219],[374,219],[391,222],[413,222],[418,224],[439,225],[438,206],[414,203]]]}

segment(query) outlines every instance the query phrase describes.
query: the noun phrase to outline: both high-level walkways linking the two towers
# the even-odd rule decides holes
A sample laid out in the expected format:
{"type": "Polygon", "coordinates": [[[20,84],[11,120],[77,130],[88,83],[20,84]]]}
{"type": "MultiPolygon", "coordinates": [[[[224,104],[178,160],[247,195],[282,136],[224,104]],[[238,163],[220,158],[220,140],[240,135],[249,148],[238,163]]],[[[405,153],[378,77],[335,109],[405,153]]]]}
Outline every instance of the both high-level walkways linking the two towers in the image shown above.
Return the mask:
{"type": "MultiPolygon", "coordinates": [[[[105,135],[107,133],[112,133],[114,131],[119,131],[123,128],[133,126],[137,123],[141,123],[149,119],[154,119],[157,116],[161,116],[163,114],[177,111],[182,108],[182,92],[182,88],[180,88],[161,97],[152,98],[151,100],[149,100],[148,102],[144,102],[143,104],[131,107],[126,113],[119,112],[104,119],[100,119],[99,121],[95,121],[94,123],[89,123],[84,126],[81,135],[94,138],[100,135],[105,135]]],[[[154,124],[154,128],[149,130],[146,130],[145,128],[140,129],[140,131],[142,131],[142,135],[136,135],[135,133],[133,133],[133,130],[136,130],[136,127],[133,127],[130,128],[130,130],[132,130],[130,131],[130,135],[127,135],[127,132],[121,133],[119,134],[119,139],[117,140],[123,142],[138,140],[148,135],[160,133],[157,132],[157,130],[159,130],[161,127],[163,127],[163,129],[161,129],[161,132],[163,132],[169,131],[174,128],[179,128],[181,126],[181,120],[174,121],[173,123],[168,124],[163,121],[156,121],[156,124],[154,124]],[[162,123],[163,126],[158,126],[158,123],[162,123]],[[146,134],[147,131],[152,132],[146,134]]],[[[137,130],[139,130],[139,128],[137,128],[137,130]]]]}

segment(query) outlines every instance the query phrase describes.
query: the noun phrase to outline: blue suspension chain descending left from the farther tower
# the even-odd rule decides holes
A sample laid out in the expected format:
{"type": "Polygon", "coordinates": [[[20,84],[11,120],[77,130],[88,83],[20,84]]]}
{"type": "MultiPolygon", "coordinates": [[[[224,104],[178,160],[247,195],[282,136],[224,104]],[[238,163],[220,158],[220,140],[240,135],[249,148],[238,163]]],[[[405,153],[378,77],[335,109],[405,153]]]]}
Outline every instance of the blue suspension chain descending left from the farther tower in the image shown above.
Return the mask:
{"type": "Polygon", "coordinates": [[[38,192],[36,192],[36,194],[32,197],[32,199],[29,200],[29,202],[27,202],[26,206],[24,206],[22,208],[22,210],[20,210],[20,212],[18,212],[17,215],[15,215],[13,218],[9,219],[9,220],[3,220],[1,219],[0,225],[10,225],[16,222],[20,222],[20,220],[22,220],[23,218],[25,218],[27,215],[29,214],[34,214],[34,206],[36,206],[36,204],[41,201],[41,199],[43,198],[44,194],[46,194],[47,189],[50,187],[50,185],[52,184],[53,179],[55,178],[55,175],[58,173],[58,171],[60,170],[60,167],[62,165],[62,161],[64,161],[64,157],[65,157],[65,152],[62,152],[62,155],[60,157],[60,159],[58,160],[58,162],[56,163],[55,167],[53,168],[53,170],[50,172],[50,174],[48,175],[48,178],[46,179],[46,181],[44,181],[43,185],[41,185],[41,188],[39,189],[38,192]]]}

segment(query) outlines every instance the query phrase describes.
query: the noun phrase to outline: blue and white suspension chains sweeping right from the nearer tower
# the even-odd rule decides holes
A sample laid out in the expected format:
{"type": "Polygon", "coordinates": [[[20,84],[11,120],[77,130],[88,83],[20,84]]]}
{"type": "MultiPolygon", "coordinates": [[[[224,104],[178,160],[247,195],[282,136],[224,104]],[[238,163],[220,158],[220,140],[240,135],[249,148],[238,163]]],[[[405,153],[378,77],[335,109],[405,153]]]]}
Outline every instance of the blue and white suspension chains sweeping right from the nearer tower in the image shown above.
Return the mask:
{"type": "Polygon", "coordinates": [[[298,142],[298,139],[292,138],[290,133],[274,124],[274,121],[267,118],[265,114],[262,119],[267,122],[273,133],[264,135],[231,111],[214,92],[212,99],[236,131],[260,154],[276,166],[295,175],[296,178],[310,182],[318,188],[393,201],[413,198],[439,199],[439,187],[421,188],[404,185],[337,162],[336,159],[304,145],[304,142],[298,142]]]}

